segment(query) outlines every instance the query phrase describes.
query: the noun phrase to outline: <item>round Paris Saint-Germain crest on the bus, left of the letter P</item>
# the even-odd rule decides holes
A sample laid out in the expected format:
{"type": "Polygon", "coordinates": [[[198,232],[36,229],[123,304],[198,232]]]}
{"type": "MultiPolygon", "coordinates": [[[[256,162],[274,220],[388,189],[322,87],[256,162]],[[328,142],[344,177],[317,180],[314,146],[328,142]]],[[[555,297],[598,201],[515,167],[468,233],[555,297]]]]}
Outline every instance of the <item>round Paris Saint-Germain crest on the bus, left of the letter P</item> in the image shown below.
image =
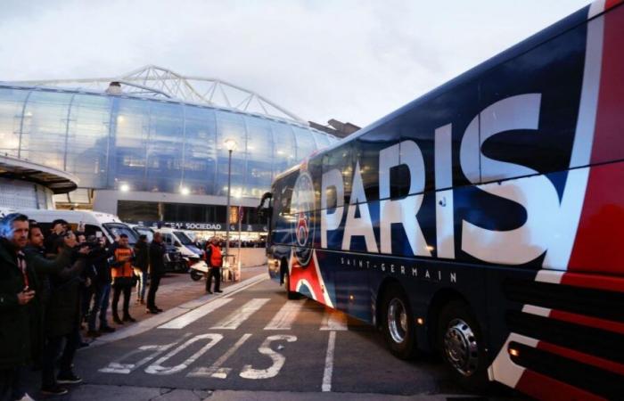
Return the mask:
{"type": "Polygon", "coordinates": [[[301,171],[292,188],[291,213],[295,233],[295,257],[300,266],[308,265],[312,257],[314,224],[310,218],[314,213],[314,184],[307,171],[301,171]]]}

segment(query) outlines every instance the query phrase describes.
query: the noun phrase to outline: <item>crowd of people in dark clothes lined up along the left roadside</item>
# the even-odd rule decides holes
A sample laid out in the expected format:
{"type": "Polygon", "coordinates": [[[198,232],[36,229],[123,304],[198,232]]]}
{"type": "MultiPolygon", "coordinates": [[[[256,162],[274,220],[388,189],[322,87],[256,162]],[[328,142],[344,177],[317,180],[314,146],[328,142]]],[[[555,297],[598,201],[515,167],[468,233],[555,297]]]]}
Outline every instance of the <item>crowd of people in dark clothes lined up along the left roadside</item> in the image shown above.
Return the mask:
{"type": "Polygon", "coordinates": [[[55,220],[49,233],[27,216],[12,213],[0,220],[0,401],[31,400],[23,382],[27,369],[41,371],[41,392],[58,396],[65,385],[82,379],[73,370],[74,355],[95,338],[115,331],[108,322],[135,322],[129,313],[132,288],[149,314],[165,273],[160,233],[130,247],[126,234],[113,243],[104,236],[73,233],[55,220]],[[149,290],[147,290],[149,275],[149,290]],[[145,292],[147,297],[145,299],[145,292]],[[122,300],[119,315],[119,299],[122,300]],[[99,321],[99,324],[98,324],[99,321]]]}

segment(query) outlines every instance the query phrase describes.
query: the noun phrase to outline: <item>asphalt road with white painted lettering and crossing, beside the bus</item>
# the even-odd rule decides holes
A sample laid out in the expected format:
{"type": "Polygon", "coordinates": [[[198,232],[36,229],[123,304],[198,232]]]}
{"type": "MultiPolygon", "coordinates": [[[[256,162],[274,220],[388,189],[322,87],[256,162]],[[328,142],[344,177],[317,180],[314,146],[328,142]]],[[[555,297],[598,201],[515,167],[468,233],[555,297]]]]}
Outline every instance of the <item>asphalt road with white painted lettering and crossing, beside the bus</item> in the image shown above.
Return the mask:
{"type": "MultiPolygon", "coordinates": [[[[189,286],[179,280],[181,287],[189,286]]],[[[75,364],[85,380],[82,386],[204,395],[261,390],[336,397],[366,393],[379,399],[476,396],[449,381],[438,358],[399,360],[372,326],[313,300],[287,300],[275,282],[256,280],[231,290],[204,296],[168,311],[172,315],[143,320],[108,342],[81,349],[75,364]]]]}

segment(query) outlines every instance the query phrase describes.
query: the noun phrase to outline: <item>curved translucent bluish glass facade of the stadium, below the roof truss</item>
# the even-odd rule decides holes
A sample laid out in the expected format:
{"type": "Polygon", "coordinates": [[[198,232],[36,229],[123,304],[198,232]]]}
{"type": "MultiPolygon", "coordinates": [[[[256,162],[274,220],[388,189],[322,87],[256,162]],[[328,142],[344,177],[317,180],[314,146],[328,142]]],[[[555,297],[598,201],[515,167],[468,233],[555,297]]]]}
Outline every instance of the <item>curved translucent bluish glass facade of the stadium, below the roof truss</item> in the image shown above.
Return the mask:
{"type": "Polygon", "coordinates": [[[336,141],[296,122],[136,96],[0,85],[0,153],[62,169],[81,188],[259,198],[336,141]]]}

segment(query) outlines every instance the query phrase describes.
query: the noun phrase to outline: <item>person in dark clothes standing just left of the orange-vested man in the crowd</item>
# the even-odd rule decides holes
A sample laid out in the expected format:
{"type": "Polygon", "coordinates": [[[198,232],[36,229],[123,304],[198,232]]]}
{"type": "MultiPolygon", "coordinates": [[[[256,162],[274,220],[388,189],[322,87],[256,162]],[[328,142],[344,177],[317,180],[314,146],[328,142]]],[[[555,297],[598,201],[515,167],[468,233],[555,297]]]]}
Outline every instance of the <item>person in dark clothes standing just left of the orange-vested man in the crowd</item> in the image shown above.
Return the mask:
{"type": "Polygon", "coordinates": [[[93,280],[94,287],[94,299],[87,318],[87,331],[86,335],[91,338],[100,337],[103,333],[115,331],[112,328],[107,319],[106,313],[109,309],[109,299],[111,297],[111,266],[109,266],[108,258],[112,253],[106,247],[106,238],[97,237],[89,239],[89,241],[99,241],[100,246],[91,250],[89,254],[94,269],[95,277],[93,280]],[[98,312],[100,315],[100,329],[95,329],[95,323],[97,321],[98,312]]]}

